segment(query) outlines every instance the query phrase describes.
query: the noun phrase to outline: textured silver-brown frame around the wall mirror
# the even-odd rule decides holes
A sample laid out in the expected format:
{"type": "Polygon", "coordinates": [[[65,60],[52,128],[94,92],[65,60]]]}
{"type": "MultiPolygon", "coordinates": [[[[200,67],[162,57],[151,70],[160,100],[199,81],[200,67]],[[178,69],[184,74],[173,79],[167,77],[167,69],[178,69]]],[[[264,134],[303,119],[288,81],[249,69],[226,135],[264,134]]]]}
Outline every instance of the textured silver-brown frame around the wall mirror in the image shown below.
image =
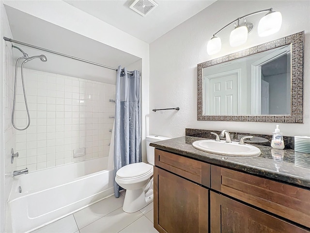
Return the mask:
{"type": "Polygon", "coordinates": [[[198,74],[198,106],[197,119],[209,121],[251,121],[251,122],[285,122],[302,123],[303,122],[303,42],[304,31],[288,35],[286,37],[267,42],[262,45],[235,52],[223,57],[219,57],[197,65],[198,74]],[[284,45],[291,44],[292,51],[292,106],[291,115],[238,115],[238,116],[215,116],[202,115],[202,69],[211,67],[220,63],[246,57],[255,53],[271,50],[284,45]]]}

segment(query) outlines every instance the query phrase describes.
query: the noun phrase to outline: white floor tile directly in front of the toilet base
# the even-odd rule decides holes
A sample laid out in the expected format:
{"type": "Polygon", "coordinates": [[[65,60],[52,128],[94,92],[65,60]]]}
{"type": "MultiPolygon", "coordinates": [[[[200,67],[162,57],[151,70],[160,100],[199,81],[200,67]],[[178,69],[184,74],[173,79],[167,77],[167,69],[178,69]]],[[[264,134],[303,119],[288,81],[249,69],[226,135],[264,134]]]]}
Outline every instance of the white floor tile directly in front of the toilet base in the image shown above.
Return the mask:
{"type": "Polygon", "coordinates": [[[117,233],[140,218],[142,213],[125,213],[121,208],[80,229],[80,233],[117,233]]]}

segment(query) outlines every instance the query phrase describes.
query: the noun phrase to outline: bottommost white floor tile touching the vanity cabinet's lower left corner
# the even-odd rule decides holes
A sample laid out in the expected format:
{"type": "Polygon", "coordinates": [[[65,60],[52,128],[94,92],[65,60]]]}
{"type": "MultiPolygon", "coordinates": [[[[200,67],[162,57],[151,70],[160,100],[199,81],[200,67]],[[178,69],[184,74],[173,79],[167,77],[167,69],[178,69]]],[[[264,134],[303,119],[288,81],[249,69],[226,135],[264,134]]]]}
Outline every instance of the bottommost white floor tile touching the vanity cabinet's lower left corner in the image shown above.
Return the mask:
{"type": "Polygon", "coordinates": [[[119,233],[158,233],[153,223],[145,216],[140,217],[137,221],[131,223],[119,233]]]}

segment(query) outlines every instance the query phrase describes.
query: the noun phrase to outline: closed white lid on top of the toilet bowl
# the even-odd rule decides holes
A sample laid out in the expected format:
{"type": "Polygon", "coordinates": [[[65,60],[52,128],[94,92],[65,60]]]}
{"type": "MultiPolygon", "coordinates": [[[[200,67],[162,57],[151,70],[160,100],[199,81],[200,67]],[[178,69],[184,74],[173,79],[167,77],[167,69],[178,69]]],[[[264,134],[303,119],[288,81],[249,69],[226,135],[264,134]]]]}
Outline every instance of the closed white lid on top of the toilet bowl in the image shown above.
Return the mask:
{"type": "Polygon", "coordinates": [[[133,178],[137,176],[142,176],[146,173],[149,173],[152,170],[153,166],[146,163],[136,163],[129,164],[121,167],[117,172],[116,176],[123,179],[133,178]]]}

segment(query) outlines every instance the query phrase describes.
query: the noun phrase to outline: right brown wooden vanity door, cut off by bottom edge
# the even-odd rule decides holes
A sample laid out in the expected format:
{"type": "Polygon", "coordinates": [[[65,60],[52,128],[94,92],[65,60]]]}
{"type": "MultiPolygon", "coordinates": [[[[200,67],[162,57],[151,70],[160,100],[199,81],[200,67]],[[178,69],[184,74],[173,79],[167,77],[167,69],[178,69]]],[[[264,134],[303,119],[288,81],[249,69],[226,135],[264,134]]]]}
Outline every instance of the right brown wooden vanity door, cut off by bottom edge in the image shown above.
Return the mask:
{"type": "Polygon", "coordinates": [[[236,200],[210,192],[212,233],[309,233],[236,200]]]}

